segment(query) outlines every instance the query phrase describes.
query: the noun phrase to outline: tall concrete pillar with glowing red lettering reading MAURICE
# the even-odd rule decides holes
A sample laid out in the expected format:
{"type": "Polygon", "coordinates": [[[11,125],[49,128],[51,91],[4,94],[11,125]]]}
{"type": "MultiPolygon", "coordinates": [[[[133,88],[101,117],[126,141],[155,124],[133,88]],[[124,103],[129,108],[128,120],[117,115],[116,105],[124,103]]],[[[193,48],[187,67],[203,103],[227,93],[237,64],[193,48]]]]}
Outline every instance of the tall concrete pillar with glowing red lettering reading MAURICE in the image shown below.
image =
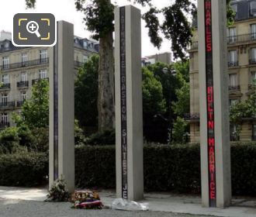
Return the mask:
{"type": "Polygon", "coordinates": [[[199,0],[202,206],[231,201],[226,1],[199,0]]]}

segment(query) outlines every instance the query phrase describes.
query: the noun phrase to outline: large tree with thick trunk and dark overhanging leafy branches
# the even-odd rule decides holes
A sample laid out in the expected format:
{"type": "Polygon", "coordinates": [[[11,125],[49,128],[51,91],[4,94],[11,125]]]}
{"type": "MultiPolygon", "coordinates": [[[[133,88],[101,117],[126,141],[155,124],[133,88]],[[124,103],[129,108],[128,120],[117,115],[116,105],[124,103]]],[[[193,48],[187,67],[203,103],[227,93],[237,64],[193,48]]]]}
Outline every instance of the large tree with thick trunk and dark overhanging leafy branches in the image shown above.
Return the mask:
{"type": "MultiPolygon", "coordinates": [[[[99,131],[112,129],[114,126],[114,85],[113,85],[113,38],[114,5],[111,0],[74,0],[76,9],[84,12],[85,26],[99,40],[99,131]]],[[[128,1],[129,2],[129,1],[128,1]]],[[[162,38],[171,41],[171,50],[175,58],[185,59],[185,50],[191,43],[192,26],[188,15],[195,15],[194,0],[170,1],[170,5],[157,9],[151,4],[152,0],[133,0],[140,5],[149,5],[150,9],[143,15],[149,29],[151,43],[160,48],[162,38]],[[162,15],[164,21],[159,22],[162,15]]],[[[227,0],[229,3],[230,0],[227,0]]],[[[28,8],[33,8],[36,0],[26,0],[28,8]]],[[[227,15],[234,15],[227,7],[227,15]]],[[[231,18],[232,19],[232,18],[231,18]]]]}

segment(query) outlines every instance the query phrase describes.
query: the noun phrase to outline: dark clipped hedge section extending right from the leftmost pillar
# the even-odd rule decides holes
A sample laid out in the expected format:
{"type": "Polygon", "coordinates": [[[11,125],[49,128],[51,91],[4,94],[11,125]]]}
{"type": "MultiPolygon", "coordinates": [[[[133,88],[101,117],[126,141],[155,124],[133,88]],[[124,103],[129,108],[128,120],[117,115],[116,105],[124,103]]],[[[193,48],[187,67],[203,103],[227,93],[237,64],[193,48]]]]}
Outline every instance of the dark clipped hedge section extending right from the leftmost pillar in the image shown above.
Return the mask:
{"type": "MultiPolygon", "coordinates": [[[[115,188],[115,146],[79,146],[75,158],[79,188],[115,188]]],[[[231,170],[233,194],[255,195],[256,143],[232,144],[231,170]]],[[[199,144],[144,146],[144,188],[199,194],[199,144]]]]}

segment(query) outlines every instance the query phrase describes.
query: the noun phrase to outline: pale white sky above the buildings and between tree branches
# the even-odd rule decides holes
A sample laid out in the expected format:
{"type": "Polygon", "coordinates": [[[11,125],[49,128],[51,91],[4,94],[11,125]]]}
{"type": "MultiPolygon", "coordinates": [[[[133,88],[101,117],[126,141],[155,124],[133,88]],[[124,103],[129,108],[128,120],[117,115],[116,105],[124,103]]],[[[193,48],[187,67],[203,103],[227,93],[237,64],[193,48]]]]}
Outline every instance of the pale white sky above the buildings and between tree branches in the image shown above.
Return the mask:
{"type": "MultiPolygon", "coordinates": [[[[12,18],[16,13],[22,12],[50,12],[55,15],[57,20],[65,20],[74,24],[74,34],[76,36],[90,38],[92,33],[85,29],[85,23],[82,22],[84,15],[77,12],[74,7],[74,0],[36,0],[36,9],[26,9],[25,0],[5,0],[1,2],[0,13],[0,31],[5,30],[12,32],[12,18]]],[[[117,5],[130,5],[131,2],[126,0],[116,0],[117,5]]],[[[154,5],[162,8],[170,4],[171,0],[153,0],[154,5]]],[[[142,8],[136,5],[142,12],[147,12],[147,8],[142,8]]],[[[171,52],[171,42],[164,40],[160,50],[157,50],[151,43],[147,36],[147,28],[145,22],[142,21],[142,57],[153,55],[155,53],[171,52]]]]}

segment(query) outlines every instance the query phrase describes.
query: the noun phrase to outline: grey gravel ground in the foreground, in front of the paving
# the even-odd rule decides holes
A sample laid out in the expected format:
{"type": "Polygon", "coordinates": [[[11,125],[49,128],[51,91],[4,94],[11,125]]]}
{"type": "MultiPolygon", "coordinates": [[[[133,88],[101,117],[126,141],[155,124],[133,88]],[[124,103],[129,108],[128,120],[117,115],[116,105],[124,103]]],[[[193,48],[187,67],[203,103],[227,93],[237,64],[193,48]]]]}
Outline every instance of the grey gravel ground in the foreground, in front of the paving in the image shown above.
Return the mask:
{"type": "Polygon", "coordinates": [[[202,215],[170,212],[126,212],[111,209],[79,210],[70,207],[70,203],[32,202],[0,198],[1,217],[202,217],[202,215]]]}

